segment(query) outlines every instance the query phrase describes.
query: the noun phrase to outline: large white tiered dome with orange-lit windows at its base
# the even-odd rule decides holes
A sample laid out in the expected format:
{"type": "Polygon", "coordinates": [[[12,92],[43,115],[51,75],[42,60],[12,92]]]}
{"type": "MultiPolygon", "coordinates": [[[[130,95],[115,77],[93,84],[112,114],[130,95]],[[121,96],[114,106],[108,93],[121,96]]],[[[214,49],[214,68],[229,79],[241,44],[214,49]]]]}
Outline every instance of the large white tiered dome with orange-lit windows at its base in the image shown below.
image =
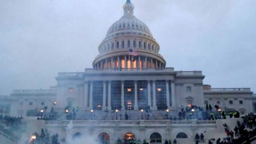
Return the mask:
{"type": "Polygon", "coordinates": [[[134,5],[127,0],[124,15],[108,29],[99,45],[93,68],[164,68],[166,61],[158,53],[160,46],[148,26],[134,16],[134,5]],[[129,55],[129,51],[136,55],[129,55]],[[131,61],[132,60],[132,61],[131,61]]]}

